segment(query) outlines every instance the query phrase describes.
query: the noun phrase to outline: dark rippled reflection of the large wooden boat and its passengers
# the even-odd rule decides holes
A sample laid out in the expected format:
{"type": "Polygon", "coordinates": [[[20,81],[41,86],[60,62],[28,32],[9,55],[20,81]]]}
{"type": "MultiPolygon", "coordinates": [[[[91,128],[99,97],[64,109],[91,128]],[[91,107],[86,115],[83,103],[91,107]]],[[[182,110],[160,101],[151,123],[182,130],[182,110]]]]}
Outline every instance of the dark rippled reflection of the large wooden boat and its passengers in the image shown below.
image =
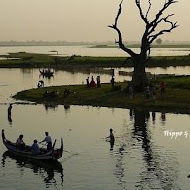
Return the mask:
{"type": "Polygon", "coordinates": [[[20,173],[23,174],[24,168],[29,168],[35,175],[39,175],[43,178],[43,181],[46,185],[46,188],[49,188],[51,185],[63,186],[63,167],[62,164],[58,161],[46,162],[46,161],[37,161],[29,160],[21,157],[17,157],[11,154],[9,151],[6,151],[2,155],[2,167],[6,169],[6,165],[10,164],[9,158],[16,160],[17,167],[20,169],[20,173]],[[55,174],[59,174],[59,178],[56,179],[55,174]]]}

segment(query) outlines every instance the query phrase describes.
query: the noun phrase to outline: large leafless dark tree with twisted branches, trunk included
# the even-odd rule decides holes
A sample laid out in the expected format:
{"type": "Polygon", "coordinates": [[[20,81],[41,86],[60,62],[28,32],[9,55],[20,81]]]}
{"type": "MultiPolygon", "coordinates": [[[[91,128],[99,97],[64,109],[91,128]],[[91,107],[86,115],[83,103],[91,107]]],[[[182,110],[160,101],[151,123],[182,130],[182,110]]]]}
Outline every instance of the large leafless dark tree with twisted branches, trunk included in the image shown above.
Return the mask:
{"type": "Polygon", "coordinates": [[[145,23],[145,31],[142,35],[141,49],[139,54],[135,53],[132,49],[128,48],[127,45],[123,43],[122,33],[118,28],[118,20],[122,12],[123,0],[121,0],[121,3],[119,5],[119,10],[115,18],[115,23],[113,25],[108,26],[110,28],[113,28],[118,33],[118,41],[116,41],[116,43],[119,44],[119,47],[127,54],[129,54],[133,60],[134,71],[132,75],[131,84],[137,91],[142,91],[144,89],[144,86],[148,84],[148,78],[145,72],[145,65],[147,60],[149,59],[151,44],[161,35],[169,33],[174,28],[178,27],[177,22],[172,22],[170,20],[170,18],[174,14],[168,14],[167,16],[163,16],[165,10],[170,5],[176,3],[176,0],[165,0],[165,2],[163,3],[163,7],[158,11],[157,14],[155,14],[153,20],[149,20],[149,12],[152,7],[151,0],[147,0],[147,2],[148,8],[147,11],[144,12],[142,10],[141,0],[135,0],[135,4],[139,10],[140,17],[145,23]],[[156,29],[158,29],[158,27],[163,23],[166,24],[167,28],[157,31],[156,29]]]}

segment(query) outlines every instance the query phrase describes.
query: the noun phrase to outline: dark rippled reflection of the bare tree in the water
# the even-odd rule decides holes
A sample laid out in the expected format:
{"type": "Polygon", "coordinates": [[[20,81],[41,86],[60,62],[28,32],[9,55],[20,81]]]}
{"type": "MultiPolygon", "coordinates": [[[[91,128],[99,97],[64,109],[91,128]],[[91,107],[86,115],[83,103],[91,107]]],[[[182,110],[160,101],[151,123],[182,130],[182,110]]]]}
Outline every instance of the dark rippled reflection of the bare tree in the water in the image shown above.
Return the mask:
{"type": "MultiPolygon", "coordinates": [[[[164,152],[160,147],[155,147],[150,132],[150,113],[144,110],[134,110],[134,128],[132,137],[142,143],[143,159],[146,169],[140,173],[141,181],[138,187],[142,189],[161,188],[180,189],[177,184],[178,173],[175,157],[171,152],[164,152]],[[161,153],[162,152],[162,153],[161,153]]],[[[155,121],[155,113],[152,113],[155,121]]],[[[165,120],[165,114],[162,118],[165,120]]]]}

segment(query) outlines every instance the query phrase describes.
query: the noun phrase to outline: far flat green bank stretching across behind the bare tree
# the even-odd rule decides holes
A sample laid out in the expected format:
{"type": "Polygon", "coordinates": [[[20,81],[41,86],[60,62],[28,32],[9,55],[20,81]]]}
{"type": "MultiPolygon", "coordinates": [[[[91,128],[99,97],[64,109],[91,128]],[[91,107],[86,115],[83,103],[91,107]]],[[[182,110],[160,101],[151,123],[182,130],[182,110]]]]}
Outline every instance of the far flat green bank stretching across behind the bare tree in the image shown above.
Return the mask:
{"type": "MultiPolygon", "coordinates": [[[[86,56],[52,56],[52,54],[34,54],[26,52],[0,55],[0,68],[84,68],[84,67],[132,67],[130,58],[125,57],[86,57],[86,56]]],[[[190,56],[152,57],[147,67],[190,66],[190,56]]]]}

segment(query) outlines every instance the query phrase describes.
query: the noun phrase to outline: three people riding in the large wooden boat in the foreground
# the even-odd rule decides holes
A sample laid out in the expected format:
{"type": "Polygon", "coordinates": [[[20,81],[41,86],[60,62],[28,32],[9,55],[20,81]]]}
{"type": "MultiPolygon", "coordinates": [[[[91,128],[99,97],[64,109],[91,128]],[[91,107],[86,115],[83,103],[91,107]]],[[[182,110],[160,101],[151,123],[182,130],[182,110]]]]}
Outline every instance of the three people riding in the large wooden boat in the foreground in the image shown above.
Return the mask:
{"type": "MultiPolygon", "coordinates": [[[[21,150],[24,150],[26,148],[23,137],[24,136],[21,134],[21,135],[19,135],[18,139],[16,140],[16,147],[21,150]]],[[[47,151],[52,149],[52,139],[48,132],[45,132],[45,138],[39,143],[42,143],[42,142],[45,142],[47,144],[47,151]]],[[[33,144],[30,146],[30,150],[31,150],[32,154],[34,154],[34,155],[40,154],[39,143],[36,139],[33,141],[33,144]]]]}

